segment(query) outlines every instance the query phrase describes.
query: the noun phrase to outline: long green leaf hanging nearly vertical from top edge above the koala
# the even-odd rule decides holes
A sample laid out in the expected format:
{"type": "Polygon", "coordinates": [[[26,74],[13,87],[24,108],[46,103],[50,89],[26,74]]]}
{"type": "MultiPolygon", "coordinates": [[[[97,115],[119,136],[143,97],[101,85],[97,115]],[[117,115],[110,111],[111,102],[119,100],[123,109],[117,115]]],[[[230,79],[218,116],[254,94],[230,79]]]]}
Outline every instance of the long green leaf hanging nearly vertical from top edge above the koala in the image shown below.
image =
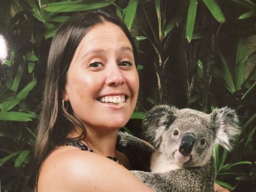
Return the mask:
{"type": "Polygon", "coordinates": [[[188,17],[186,19],[186,38],[188,39],[189,42],[191,41],[193,36],[197,6],[198,6],[197,0],[189,1],[189,11],[188,11],[188,17]]]}

